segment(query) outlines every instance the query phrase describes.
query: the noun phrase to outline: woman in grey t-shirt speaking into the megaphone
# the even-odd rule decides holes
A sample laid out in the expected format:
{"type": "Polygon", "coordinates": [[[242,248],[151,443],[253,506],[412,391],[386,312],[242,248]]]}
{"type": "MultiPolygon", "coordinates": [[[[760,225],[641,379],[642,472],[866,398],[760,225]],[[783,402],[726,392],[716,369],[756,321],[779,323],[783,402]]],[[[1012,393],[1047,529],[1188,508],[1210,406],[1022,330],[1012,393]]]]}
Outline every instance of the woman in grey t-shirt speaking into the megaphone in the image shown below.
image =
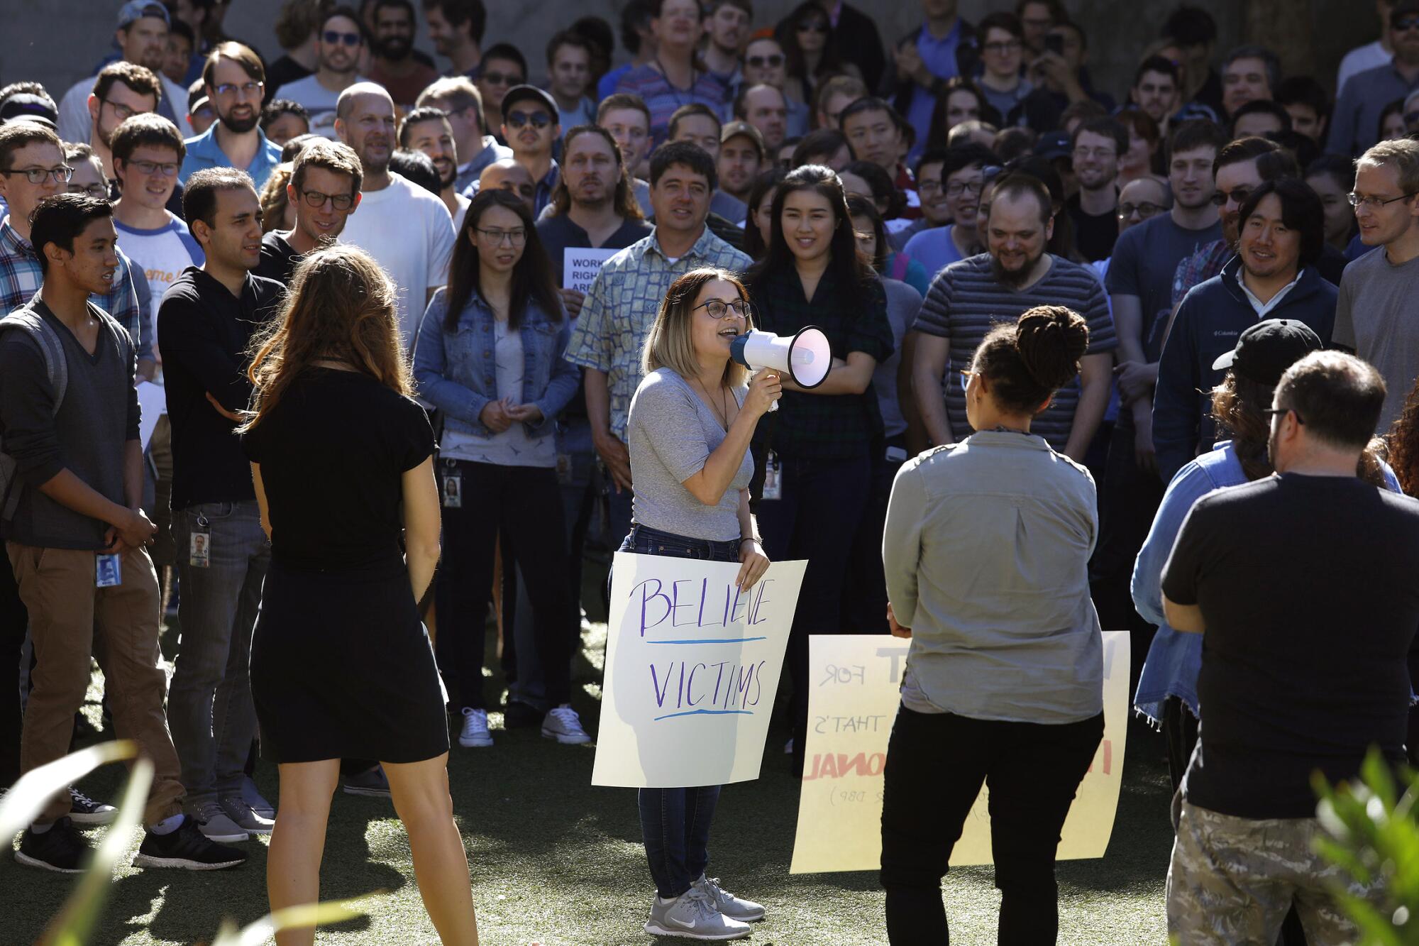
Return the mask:
{"type": "MultiPolygon", "coordinates": [[[[729,358],[749,331],[749,295],[732,273],[698,268],[674,281],[646,337],[646,379],[626,426],[636,483],[622,551],[736,561],[741,589],[769,560],[749,511],[753,429],[782,393],[779,375],[729,358]],[[748,384],[746,384],[748,382],[748,384]]],[[[640,824],[656,898],[646,932],[738,939],[763,908],[705,875],[719,785],[641,788],[640,824]]]]}

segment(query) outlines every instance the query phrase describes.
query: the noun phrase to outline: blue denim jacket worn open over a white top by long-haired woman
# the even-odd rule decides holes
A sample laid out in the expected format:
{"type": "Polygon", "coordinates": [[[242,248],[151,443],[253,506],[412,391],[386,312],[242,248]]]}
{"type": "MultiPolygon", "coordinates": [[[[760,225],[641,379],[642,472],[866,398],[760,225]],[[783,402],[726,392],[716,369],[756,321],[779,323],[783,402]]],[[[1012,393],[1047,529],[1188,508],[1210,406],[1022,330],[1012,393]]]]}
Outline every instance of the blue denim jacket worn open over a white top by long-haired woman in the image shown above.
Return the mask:
{"type": "MultiPolygon", "coordinates": [[[[458,315],[458,330],[444,328],[447,290],[434,293],[414,348],[419,395],[444,415],[444,428],[480,437],[494,436],[478,415],[498,399],[492,310],[474,293],[458,315]]],[[[561,315],[561,312],[558,312],[561,315]]],[[[529,436],[549,433],[556,415],[576,393],[576,366],[562,358],[572,335],[568,320],[553,321],[528,301],[518,328],[522,337],[522,396],[542,411],[541,423],[524,423],[529,436]]]]}

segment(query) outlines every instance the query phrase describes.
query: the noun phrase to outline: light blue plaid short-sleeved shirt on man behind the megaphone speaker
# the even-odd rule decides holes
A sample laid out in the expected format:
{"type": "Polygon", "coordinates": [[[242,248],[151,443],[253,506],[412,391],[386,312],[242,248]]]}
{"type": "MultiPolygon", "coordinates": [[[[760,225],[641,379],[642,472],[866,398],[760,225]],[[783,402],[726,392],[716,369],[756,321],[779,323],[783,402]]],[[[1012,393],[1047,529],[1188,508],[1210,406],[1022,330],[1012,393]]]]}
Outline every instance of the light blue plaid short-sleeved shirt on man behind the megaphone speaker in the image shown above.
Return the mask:
{"type": "Polygon", "coordinates": [[[610,388],[612,433],[626,439],[630,399],[640,386],[640,352],[670,284],[701,266],[744,273],[752,260],[705,227],[695,244],[671,263],[656,232],[606,260],[586,291],[566,359],[606,372],[610,388]]]}

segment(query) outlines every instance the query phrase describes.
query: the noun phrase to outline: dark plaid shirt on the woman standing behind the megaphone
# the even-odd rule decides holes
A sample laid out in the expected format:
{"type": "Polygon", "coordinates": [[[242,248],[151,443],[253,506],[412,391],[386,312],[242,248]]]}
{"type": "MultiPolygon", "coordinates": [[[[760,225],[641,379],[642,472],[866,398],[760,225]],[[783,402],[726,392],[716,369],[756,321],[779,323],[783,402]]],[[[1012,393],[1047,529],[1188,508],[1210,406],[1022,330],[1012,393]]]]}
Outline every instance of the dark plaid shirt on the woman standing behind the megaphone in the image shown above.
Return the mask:
{"type": "MultiPolygon", "coordinates": [[[[847,359],[860,351],[887,361],[895,348],[887,321],[887,294],[881,281],[863,291],[863,305],[850,304],[837,286],[832,267],[819,280],[813,298],[803,297],[803,283],[792,267],[766,273],[749,287],[753,327],[776,335],[793,335],[817,325],[827,335],[834,358],[847,359]]],[[[755,443],[779,456],[800,459],[846,459],[866,456],[873,437],[881,436],[883,420],[877,395],[868,385],[860,395],[815,395],[785,392],[779,411],[761,423],[755,443]]]]}

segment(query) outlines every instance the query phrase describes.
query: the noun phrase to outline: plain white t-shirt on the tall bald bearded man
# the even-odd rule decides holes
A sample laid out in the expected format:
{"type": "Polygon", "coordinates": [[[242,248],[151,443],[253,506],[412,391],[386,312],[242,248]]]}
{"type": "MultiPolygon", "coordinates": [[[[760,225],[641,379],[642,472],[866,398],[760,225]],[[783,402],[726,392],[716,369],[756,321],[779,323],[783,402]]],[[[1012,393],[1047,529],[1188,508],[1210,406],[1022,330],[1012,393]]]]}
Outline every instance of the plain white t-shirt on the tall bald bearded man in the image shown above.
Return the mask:
{"type": "Polygon", "coordinates": [[[436,195],[390,172],[387,187],[363,193],[341,241],[373,256],[394,281],[407,351],[419,332],[429,290],[448,281],[454,243],[448,207],[436,195]]]}

